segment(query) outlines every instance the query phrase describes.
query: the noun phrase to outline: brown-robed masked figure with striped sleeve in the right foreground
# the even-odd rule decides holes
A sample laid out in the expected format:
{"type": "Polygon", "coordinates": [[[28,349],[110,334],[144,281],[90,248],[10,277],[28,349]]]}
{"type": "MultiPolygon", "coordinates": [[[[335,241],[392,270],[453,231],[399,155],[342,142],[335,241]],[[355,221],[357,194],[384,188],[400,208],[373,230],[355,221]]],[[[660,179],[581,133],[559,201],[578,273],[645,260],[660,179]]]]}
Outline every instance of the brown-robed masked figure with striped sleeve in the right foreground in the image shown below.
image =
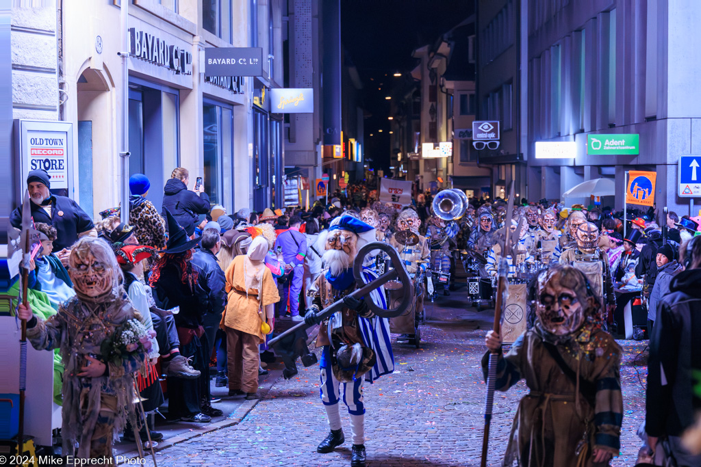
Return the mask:
{"type": "MultiPolygon", "coordinates": [[[[526,380],[503,463],[522,466],[603,466],[620,450],[622,349],[601,329],[601,303],[584,274],[554,266],[538,275],[536,326],[505,356],[498,354],[496,390],[526,380]]],[[[486,379],[489,352],[482,359],[486,379]]]]}

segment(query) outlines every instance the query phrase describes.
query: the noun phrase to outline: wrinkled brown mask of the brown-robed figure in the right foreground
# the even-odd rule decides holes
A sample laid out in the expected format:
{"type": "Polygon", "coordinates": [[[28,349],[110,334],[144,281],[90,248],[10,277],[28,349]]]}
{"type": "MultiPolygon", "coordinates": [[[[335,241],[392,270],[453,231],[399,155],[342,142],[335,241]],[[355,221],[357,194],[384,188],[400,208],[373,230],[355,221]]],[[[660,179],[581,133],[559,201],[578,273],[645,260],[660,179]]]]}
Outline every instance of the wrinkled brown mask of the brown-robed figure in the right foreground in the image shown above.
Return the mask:
{"type": "Polygon", "coordinates": [[[573,267],[556,266],[538,280],[536,316],[548,333],[557,336],[576,332],[587,312],[597,311],[596,300],[587,293],[585,275],[573,267]]]}

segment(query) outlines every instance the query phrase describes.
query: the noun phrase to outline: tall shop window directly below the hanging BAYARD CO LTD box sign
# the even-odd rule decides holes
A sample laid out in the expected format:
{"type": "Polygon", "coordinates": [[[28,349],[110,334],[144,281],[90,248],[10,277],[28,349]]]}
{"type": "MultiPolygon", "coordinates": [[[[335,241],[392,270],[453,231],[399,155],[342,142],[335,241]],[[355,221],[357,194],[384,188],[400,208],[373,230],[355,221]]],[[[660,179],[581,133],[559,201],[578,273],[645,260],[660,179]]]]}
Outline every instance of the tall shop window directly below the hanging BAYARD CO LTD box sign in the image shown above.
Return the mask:
{"type": "Polygon", "coordinates": [[[233,209],[233,113],[212,102],[202,108],[205,193],[211,204],[233,209]]]}

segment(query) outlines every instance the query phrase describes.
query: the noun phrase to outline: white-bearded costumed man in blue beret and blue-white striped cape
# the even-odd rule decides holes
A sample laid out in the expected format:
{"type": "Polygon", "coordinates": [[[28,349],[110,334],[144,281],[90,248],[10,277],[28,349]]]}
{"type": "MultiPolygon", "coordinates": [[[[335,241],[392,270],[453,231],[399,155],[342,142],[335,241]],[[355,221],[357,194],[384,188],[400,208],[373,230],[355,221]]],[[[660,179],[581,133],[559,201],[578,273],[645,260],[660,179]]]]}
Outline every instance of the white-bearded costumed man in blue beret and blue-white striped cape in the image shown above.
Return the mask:
{"type": "MultiPolygon", "coordinates": [[[[353,277],[353,262],[358,251],[375,241],[375,230],[353,216],[334,219],[327,232],[322,232],[318,249],[324,249],[325,270],[313,284],[309,295],[314,302],[304,321],[318,323],[318,312],[343,299],[343,309],[321,321],[316,347],[322,347],[321,400],[329,417],[331,432],[317,447],[317,452],[332,452],[345,441],[339,413],[340,386],[343,402],[351,416],[353,447],[351,467],[365,467],[365,405],[362,380],[375,379],[394,371],[390,328],[386,318],[375,316],[364,300],[349,297],[358,286],[353,277]]],[[[376,275],[363,268],[365,283],[376,275]]],[[[370,293],[379,307],[386,308],[382,288],[370,293]]]]}

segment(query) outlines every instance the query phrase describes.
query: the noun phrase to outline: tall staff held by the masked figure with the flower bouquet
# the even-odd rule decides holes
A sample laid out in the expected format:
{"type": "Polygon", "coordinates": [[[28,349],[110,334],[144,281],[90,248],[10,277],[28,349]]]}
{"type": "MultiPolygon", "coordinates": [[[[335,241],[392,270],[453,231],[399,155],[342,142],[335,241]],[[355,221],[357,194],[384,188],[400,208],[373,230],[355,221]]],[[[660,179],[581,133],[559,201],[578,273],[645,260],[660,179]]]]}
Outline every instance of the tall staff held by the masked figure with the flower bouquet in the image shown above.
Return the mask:
{"type": "MultiPolygon", "coordinates": [[[[22,202],[22,234],[20,245],[22,247],[22,303],[27,305],[27,282],[29,281],[29,266],[32,260],[32,252],[29,251],[32,235],[32,211],[29,207],[29,191],[25,192],[25,200],[22,202]]],[[[20,337],[20,420],[18,425],[18,456],[24,452],[25,437],[25,390],[27,389],[27,320],[22,323],[22,336],[20,337]]]]}

